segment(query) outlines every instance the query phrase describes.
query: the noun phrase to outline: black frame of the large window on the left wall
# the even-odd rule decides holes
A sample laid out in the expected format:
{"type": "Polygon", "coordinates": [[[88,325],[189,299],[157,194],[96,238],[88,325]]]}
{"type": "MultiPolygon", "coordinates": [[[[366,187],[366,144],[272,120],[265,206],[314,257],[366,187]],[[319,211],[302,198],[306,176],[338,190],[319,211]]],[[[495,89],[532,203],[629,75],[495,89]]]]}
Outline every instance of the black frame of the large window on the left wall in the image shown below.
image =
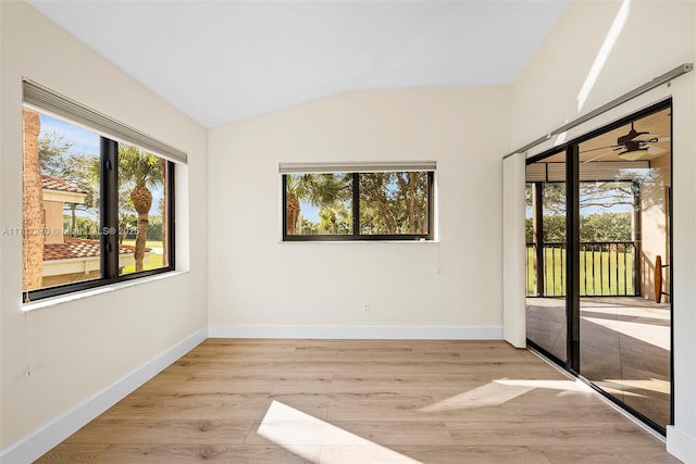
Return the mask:
{"type": "MultiPolygon", "coordinates": [[[[64,98],[58,93],[55,93],[58,98],[64,98]]],[[[33,290],[24,289],[24,285],[22,286],[22,302],[23,304],[28,304],[35,301],[44,300],[52,297],[66,296],[71,293],[75,293],[83,290],[89,290],[94,288],[100,288],[110,286],[113,284],[124,283],[128,280],[135,280],[140,278],[146,278],[159,274],[170,273],[176,269],[176,217],[175,217],[175,165],[177,163],[173,162],[172,159],[177,159],[176,156],[167,156],[163,155],[159,151],[153,151],[151,148],[152,143],[148,147],[142,147],[141,143],[138,143],[139,140],[129,140],[123,139],[122,142],[126,145],[135,145],[144,149],[146,152],[153,154],[160,159],[163,159],[166,162],[166,177],[163,179],[163,184],[166,191],[166,231],[167,231],[167,255],[166,255],[166,266],[158,267],[156,269],[147,269],[140,272],[134,272],[125,275],[119,274],[119,233],[120,233],[120,223],[119,223],[119,141],[116,137],[112,135],[107,135],[96,126],[89,126],[87,124],[80,124],[82,121],[78,117],[74,120],[60,114],[60,112],[53,112],[49,109],[46,109],[45,105],[34,104],[33,102],[25,101],[22,108],[27,108],[33,111],[37,111],[40,114],[45,114],[51,117],[59,118],[69,124],[84,127],[87,130],[91,130],[100,138],[100,150],[99,150],[99,191],[100,191],[100,201],[99,201],[99,241],[100,241],[100,251],[101,255],[100,260],[100,277],[89,279],[89,280],[80,280],[75,283],[69,283],[63,285],[55,285],[45,288],[38,288],[33,290]]],[[[90,111],[87,109],[87,111],[90,111]]],[[[107,116],[103,116],[107,117],[107,116]]],[[[120,124],[114,122],[114,124],[120,124]]],[[[23,127],[23,126],[22,126],[23,127]]],[[[127,127],[127,126],[123,126],[127,127]]],[[[24,130],[24,128],[22,128],[24,130]]],[[[145,138],[146,135],[139,133],[139,135],[145,138]]],[[[153,139],[154,140],[154,139],[153,139]]],[[[157,140],[156,140],[157,141],[157,140]]],[[[161,143],[157,141],[158,143],[161,143]]],[[[147,143],[146,143],[147,145],[147,143]]],[[[174,150],[174,149],[172,149],[174,150]]],[[[179,158],[181,159],[181,158],[179,158]]],[[[183,159],[185,162],[186,160],[183,159]]],[[[24,186],[22,186],[24,189],[24,186]]],[[[22,240],[24,240],[24,236],[22,236],[22,240]]]]}

